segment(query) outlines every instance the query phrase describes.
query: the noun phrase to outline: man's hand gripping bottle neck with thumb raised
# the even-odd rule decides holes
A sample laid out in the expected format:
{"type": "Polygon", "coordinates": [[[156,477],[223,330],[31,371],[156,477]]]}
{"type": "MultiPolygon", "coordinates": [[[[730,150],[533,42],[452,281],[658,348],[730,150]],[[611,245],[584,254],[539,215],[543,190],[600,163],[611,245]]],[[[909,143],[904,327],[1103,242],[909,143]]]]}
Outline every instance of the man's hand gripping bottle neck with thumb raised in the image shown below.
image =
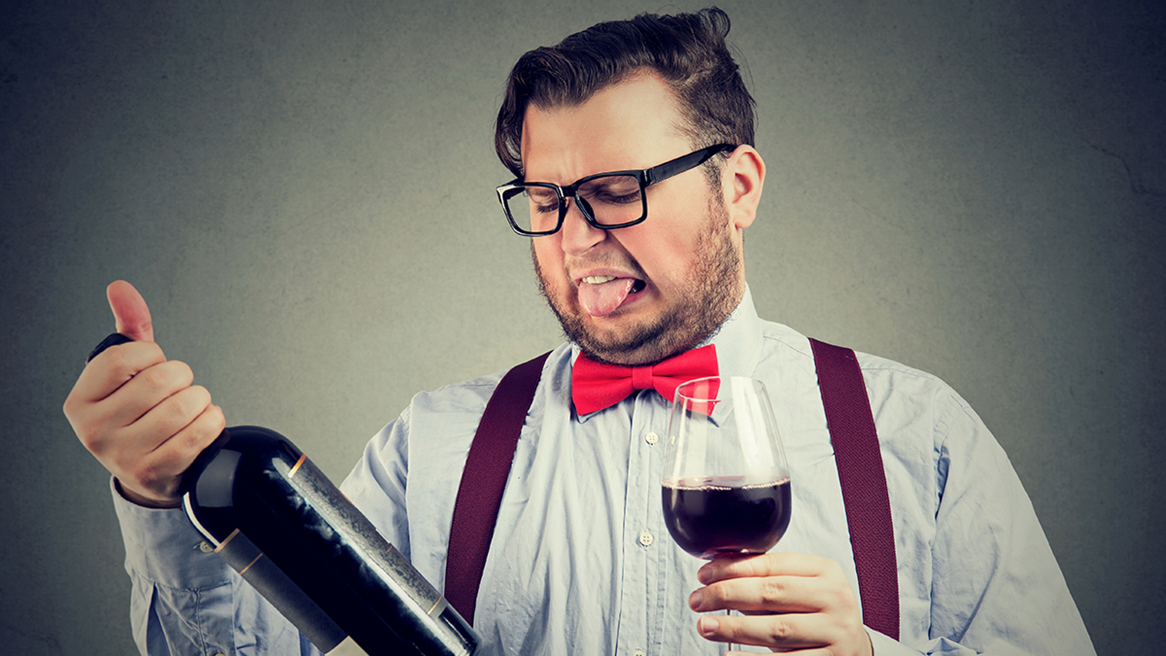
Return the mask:
{"type": "Polygon", "coordinates": [[[119,280],[106,296],[117,332],[134,341],[110,347],[85,367],[65,399],[65,417],[126,498],[171,508],[182,473],[226,420],[206,389],[191,384],[190,368],[166,360],[154,343],[149,307],[138,289],[119,280]]]}

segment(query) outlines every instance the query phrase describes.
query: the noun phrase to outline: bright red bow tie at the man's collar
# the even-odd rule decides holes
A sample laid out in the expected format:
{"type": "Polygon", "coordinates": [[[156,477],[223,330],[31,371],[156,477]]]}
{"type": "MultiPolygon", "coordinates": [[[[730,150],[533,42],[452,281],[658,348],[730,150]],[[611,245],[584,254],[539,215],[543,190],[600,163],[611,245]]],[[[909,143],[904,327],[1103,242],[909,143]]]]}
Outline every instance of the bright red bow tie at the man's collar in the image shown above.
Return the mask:
{"type": "Polygon", "coordinates": [[[712,344],[647,367],[604,364],[580,354],[571,370],[571,400],[580,414],[616,405],[635,390],[654,389],[672,403],[681,383],[716,375],[717,349],[712,344]]]}

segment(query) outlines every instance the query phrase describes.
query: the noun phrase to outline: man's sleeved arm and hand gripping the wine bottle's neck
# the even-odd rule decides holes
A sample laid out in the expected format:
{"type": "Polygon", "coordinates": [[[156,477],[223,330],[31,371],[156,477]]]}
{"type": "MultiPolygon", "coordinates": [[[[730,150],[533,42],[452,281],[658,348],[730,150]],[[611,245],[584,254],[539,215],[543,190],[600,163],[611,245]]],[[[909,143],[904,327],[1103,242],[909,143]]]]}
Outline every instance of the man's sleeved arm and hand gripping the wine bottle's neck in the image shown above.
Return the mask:
{"type": "Polygon", "coordinates": [[[117,330],[133,342],[90,362],[64,404],[80,439],[113,474],[114,508],[132,581],[131,621],[154,656],[317,654],[213,552],[178,503],[182,474],[223,431],[223,412],[190,368],[154,343],[149,308],[132,285],[106,294],[117,330]]]}

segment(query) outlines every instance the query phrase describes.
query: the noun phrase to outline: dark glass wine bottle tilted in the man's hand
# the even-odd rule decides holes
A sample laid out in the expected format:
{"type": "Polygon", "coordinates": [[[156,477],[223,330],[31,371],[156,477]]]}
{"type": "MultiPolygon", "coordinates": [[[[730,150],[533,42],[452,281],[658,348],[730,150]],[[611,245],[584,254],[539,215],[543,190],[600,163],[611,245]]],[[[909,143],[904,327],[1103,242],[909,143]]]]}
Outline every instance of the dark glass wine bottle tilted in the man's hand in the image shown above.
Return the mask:
{"type": "MultiPolygon", "coordinates": [[[[90,360],[126,341],[111,335],[90,360]]],[[[275,431],[223,431],[181,491],[204,540],[321,651],[346,641],[368,656],[477,649],[473,628],[275,431]]]]}

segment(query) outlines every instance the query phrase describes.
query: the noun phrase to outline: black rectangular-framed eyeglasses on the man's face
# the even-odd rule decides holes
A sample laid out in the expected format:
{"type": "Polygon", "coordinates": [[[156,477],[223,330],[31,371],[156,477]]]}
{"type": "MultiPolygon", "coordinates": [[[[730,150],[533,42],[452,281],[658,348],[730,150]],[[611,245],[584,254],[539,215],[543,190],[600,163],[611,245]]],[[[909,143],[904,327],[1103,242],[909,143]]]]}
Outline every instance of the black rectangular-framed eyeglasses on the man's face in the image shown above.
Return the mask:
{"type": "Polygon", "coordinates": [[[736,146],[717,144],[701,148],[660,166],[644,170],[613,170],[576,180],[567,187],[550,182],[513,180],[498,188],[498,200],[506,221],[524,237],[543,237],[559,232],[567,217],[567,198],[575,201],[588,224],[600,230],[616,230],[642,223],[648,217],[645,189],[674,175],[696,168],[723,151],[736,146]]]}

